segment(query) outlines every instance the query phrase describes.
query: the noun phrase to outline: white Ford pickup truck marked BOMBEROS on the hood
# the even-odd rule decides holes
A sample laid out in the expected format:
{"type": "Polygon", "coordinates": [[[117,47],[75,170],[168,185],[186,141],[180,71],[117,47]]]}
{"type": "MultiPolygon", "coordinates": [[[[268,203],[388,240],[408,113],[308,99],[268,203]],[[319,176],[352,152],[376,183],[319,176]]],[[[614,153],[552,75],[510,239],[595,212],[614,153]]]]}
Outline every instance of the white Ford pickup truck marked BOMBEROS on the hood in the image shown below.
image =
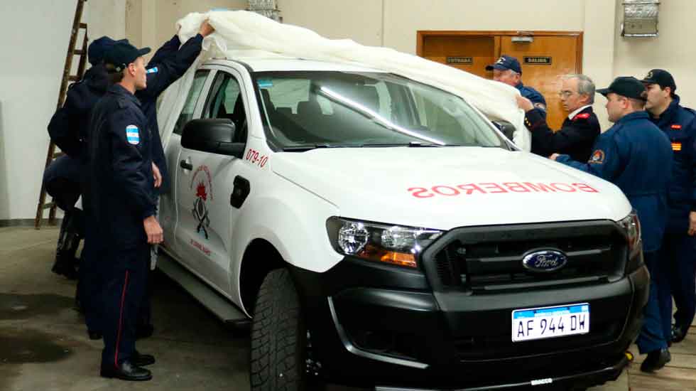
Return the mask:
{"type": "Polygon", "coordinates": [[[649,281],[628,200],[461,97],[215,59],[176,115],[160,267],[251,322],[252,390],[575,390],[628,362],[649,281]]]}

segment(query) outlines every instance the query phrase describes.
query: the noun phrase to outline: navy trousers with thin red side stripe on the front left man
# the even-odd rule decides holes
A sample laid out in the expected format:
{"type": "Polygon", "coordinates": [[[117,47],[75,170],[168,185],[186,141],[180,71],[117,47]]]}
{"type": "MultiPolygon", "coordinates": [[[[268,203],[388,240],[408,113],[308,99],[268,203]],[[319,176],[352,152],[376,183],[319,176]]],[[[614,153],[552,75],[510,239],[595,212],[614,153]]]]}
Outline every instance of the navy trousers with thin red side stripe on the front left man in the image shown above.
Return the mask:
{"type": "Polygon", "coordinates": [[[107,251],[102,259],[102,367],[118,365],[133,355],[149,264],[150,246],[146,243],[128,250],[107,251]]]}

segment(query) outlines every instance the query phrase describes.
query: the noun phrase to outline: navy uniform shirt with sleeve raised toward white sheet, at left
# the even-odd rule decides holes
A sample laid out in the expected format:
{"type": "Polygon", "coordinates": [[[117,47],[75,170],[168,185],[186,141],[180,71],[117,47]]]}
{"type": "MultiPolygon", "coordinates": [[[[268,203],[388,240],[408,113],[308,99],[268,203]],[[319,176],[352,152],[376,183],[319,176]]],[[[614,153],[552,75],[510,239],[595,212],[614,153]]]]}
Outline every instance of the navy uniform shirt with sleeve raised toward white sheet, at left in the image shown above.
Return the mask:
{"type": "Polygon", "coordinates": [[[164,156],[160,128],[157,124],[157,97],[173,82],[186,73],[186,70],[200,54],[203,36],[190,38],[181,48],[178,36],[170,39],[159,48],[148,63],[148,85],[145,90],[136,92],[136,97],[142,103],[143,113],[148,120],[148,127],[153,136],[153,161],[162,174],[162,186],[160,193],[169,191],[169,170],[164,156]]]}

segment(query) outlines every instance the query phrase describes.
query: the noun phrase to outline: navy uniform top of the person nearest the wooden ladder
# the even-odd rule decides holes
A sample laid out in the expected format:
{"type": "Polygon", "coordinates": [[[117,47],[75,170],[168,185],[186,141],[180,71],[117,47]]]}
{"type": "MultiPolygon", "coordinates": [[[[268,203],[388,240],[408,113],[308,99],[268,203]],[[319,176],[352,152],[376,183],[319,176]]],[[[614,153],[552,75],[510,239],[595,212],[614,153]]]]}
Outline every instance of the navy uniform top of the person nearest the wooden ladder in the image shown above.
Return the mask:
{"type": "Polygon", "coordinates": [[[48,134],[61,151],[72,158],[81,158],[85,149],[89,113],[109,88],[104,65],[89,68],[82,80],[70,85],[65,103],[48,124],[48,134]]]}

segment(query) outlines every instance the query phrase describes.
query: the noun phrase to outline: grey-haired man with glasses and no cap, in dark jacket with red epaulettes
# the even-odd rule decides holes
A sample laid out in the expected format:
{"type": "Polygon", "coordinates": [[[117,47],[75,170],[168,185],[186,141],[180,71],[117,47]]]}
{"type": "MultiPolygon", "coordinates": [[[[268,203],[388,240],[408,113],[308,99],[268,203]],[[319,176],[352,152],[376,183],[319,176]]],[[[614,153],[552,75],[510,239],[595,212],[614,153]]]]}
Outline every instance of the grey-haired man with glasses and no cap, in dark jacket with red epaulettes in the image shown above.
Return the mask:
{"type": "Polygon", "coordinates": [[[575,161],[587,161],[599,136],[599,121],[592,110],[594,82],[585,75],[566,75],[558,95],[569,113],[558,132],[548,127],[543,112],[530,100],[517,97],[517,105],[525,112],[524,124],[532,133],[531,152],[540,156],[565,154],[575,161]]]}

